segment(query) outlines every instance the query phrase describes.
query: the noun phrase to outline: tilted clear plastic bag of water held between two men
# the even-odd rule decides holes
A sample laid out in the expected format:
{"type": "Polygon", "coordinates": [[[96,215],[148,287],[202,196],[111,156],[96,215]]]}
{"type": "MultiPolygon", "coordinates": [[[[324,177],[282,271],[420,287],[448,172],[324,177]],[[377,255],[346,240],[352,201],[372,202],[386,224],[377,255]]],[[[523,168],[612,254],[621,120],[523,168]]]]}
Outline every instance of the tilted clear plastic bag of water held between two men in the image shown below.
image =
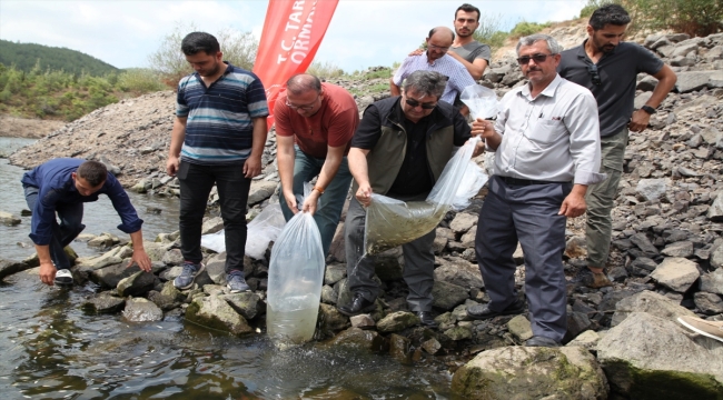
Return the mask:
{"type": "Polygon", "coordinates": [[[479,138],[472,138],[459,148],[445,166],[439,180],[425,201],[404,202],[382,194],[372,194],[372,203],[367,208],[365,221],[365,252],[378,254],[408,243],[435,229],[455,203],[478,142],[479,138]]]}

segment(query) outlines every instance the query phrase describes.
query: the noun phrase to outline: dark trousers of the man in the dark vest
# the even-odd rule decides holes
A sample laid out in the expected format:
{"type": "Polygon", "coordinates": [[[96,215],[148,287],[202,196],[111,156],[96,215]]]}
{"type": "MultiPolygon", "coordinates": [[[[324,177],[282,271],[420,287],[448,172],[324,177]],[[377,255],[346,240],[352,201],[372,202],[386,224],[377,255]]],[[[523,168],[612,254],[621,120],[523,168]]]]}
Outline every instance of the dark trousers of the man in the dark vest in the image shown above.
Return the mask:
{"type": "MultiPolygon", "coordinates": [[[[412,197],[394,197],[402,201],[420,201],[427,193],[412,197]]],[[[349,290],[361,293],[365,299],[374,301],[379,296],[379,286],[374,281],[375,257],[364,253],[364,227],[366,210],[356,198],[349,201],[345,222],[346,271],[349,290]]],[[[434,298],[434,238],[433,229],[422,238],[402,246],[404,252],[404,281],[409,288],[407,303],[412,311],[430,311],[434,298]]]]}

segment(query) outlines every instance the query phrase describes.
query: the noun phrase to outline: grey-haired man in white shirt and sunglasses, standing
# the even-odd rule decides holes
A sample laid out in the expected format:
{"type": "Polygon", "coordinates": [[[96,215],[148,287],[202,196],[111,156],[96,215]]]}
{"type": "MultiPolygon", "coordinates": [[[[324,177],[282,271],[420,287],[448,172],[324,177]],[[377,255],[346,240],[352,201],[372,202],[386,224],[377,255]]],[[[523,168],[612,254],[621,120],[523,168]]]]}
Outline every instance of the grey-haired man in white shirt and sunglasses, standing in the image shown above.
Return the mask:
{"type": "Polygon", "coordinates": [[[590,90],[557,74],[561,51],[549,36],[521,38],[517,62],[529,82],[505,94],[494,126],[473,123],[473,134],[496,154],[475,240],[491,301],[469,307],[467,314],[488,319],[524,311],[512,257],[519,241],[534,334],[526,346],[561,346],[567,331],[566,218],[585,213],[587,186],[605,179],[597,172],[597,103],[590,90]]]}

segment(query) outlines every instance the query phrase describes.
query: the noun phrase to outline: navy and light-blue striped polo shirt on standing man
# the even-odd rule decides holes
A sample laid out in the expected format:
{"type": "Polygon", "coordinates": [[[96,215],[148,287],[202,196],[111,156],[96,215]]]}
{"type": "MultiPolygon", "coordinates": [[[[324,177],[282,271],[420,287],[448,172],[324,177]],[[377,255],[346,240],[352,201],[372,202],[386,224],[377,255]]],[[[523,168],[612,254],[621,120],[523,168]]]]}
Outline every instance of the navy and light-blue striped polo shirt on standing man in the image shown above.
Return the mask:
{"type": "Polygon", "coordinates": [[[188,118],[182,161],[244,163],[251,153],[251,119],[269,113],[266,91],[258,77],[226,63],[226,72],[208,88],[197,72],[178,83],[176,116],[188,118]]]}

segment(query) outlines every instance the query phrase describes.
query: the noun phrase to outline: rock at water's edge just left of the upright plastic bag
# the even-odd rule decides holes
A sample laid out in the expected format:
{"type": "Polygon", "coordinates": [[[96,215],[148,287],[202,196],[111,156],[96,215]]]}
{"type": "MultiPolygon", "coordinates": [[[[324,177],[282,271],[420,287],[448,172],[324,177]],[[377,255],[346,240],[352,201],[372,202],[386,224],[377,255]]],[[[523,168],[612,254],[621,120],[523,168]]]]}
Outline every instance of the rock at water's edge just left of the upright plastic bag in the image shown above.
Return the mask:
{"type": "Polygon", "coordinates": [[[186,320],[236,336],[254,331],[244,317],[237,313],[226,300],[216,296],[195,298],[186,309],[186,320]]]}

